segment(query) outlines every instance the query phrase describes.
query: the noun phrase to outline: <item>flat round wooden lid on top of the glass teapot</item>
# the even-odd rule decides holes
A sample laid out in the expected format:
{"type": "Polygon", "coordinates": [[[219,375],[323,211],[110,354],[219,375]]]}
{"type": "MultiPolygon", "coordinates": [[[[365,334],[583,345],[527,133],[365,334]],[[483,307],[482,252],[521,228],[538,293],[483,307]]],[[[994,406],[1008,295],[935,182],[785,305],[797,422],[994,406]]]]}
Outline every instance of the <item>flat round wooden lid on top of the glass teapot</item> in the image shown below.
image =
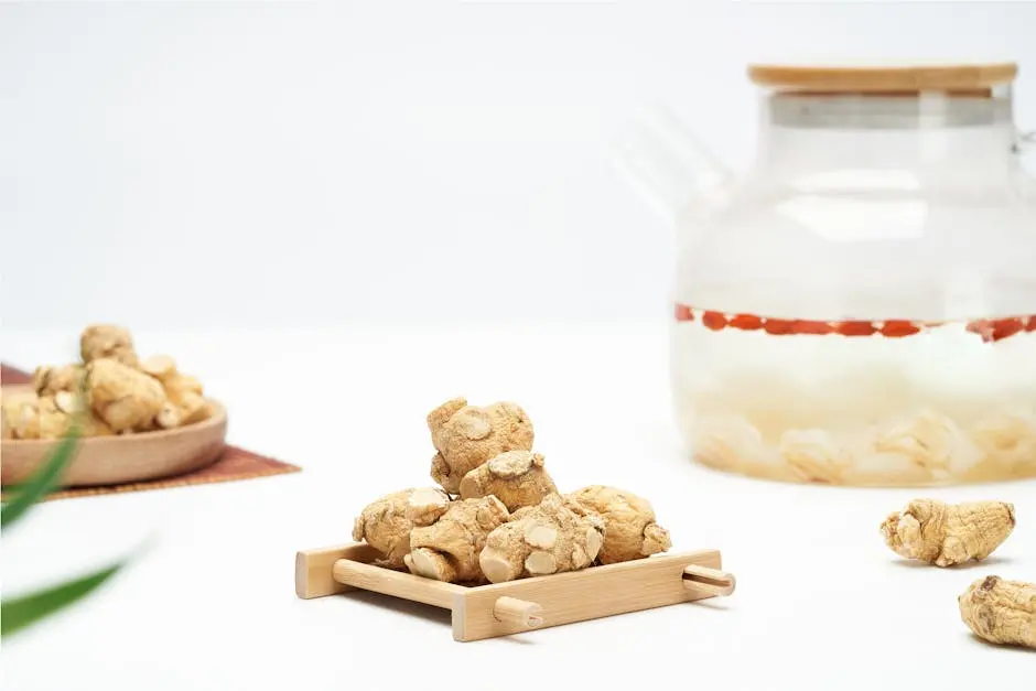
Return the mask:
{"type": "Polygon", "coordinates": [[[792,91],[917,93],[990,89],[1014,80],[1016,63],[934,65],[806,66],[749,65],[758,86],[792,91]]]}

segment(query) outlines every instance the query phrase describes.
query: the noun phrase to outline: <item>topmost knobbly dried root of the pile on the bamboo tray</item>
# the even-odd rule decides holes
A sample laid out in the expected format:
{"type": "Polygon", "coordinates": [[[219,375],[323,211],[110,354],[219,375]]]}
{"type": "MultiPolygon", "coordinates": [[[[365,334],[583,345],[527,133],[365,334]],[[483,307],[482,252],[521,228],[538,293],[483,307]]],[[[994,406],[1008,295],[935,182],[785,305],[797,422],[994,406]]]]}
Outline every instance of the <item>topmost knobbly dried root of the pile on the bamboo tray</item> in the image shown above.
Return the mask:
{"type": "Polygon", "coordinates": [[[454,398],[430,412],[427,422],[438,452],[432,479],[452,495],[458,494],[464,476],[486,461],[532,449],[532,421],[517,403],[477,407],[454,398]]]}

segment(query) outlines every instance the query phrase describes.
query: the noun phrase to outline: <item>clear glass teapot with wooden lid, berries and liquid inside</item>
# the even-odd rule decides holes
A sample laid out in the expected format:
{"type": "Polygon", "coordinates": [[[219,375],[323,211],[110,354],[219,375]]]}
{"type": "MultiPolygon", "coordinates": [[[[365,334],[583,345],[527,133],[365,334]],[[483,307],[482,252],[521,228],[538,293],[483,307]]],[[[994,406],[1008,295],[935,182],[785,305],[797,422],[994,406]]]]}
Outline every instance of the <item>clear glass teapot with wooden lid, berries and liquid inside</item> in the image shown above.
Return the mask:
{"type": "Polygon", "coordinates": [[[1013,64],[752,66],[755,163],[665,111],[619,162],[677,228],[697,461],[832,485],[1036,476],[1036,181],[1013,64]]]}

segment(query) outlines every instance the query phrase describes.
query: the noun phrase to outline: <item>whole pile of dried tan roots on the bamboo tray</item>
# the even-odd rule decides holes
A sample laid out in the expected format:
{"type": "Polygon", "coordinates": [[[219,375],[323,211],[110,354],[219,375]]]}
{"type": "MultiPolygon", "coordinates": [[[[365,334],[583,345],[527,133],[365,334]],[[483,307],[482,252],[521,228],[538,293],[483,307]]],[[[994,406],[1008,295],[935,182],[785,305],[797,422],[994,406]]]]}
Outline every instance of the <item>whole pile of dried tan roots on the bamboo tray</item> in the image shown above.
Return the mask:
{"type": "Polygon", "coordinates": [[[438,487],[368,504],[353,539],[378,565],[478,585],[578,571],[667,551],[669,532],[646,499],[590,485],[562,494],[533,451],[532,422],[516,403],[451,399],[427,417],[438,487]]]}

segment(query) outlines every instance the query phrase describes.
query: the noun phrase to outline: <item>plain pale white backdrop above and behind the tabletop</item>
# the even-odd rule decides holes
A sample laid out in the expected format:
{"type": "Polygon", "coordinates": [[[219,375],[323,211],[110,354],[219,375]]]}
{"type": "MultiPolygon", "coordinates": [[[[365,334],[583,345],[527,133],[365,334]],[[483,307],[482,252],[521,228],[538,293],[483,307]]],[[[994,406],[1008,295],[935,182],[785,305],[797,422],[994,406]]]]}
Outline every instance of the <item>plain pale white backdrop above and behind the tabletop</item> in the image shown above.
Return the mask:
{"type": "Polygon", "coordinates": [[[645,104],[732,165],[752,61],[1016,60],[1036,3],[0,6],[10,328],[652,318],[645,104]]]}

